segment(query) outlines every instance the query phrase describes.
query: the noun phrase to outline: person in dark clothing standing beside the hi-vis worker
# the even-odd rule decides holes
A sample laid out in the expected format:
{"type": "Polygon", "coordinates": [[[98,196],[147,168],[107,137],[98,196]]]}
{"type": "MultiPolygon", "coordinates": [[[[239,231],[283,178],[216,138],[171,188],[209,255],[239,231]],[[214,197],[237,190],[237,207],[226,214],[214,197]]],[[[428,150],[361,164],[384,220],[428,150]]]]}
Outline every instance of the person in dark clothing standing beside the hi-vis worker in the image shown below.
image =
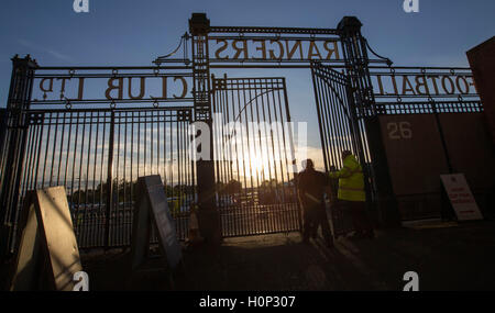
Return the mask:
{"type": "Polygon", "coordinates": [[[306,168],[298,175],[297,191],[299,202],[304,212],[302,241],[309,242],[309,237],[317,237],[318,227],[321,225],[321,232],[328,247],[333,246],[333,237],[330,233],[330,224],[327,217],[323,194],[328,182],[328,177],[315,170],[311,159],[307,159],[306,168]]]}

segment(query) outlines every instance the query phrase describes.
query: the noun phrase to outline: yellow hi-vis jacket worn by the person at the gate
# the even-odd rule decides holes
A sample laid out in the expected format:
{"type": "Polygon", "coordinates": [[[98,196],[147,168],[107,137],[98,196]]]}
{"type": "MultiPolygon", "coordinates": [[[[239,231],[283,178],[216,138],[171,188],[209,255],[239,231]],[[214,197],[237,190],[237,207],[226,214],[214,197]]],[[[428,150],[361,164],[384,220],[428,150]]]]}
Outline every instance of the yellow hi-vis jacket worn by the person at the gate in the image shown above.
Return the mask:
{"type": "Polygon", "coordinates": [[[331,178],[339,179],[337,198],[346,201],[365,201],[363,169],[353,155],[344,158],[339,171],[330,172],[331,178]]]}

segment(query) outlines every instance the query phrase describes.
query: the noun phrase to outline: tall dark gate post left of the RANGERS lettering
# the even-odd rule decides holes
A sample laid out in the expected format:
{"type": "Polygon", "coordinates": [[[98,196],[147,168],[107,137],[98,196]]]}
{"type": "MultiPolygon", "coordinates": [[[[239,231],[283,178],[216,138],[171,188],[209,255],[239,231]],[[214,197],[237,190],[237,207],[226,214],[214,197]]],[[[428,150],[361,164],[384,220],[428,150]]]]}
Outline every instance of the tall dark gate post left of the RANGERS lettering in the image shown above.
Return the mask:
{"type": "Polygon", "coordinates": [[[213,135],[208,52],[209,29],[210,20],[207,19],[205,13],[193,13],[189,20],[189,32],[193,36],[194,121],[207,123],[210,130],[209,143],[202,143],[202,145],[209,144],[209,159],[196,160],[199,204],[198,224],[206,242],[219,244],[221,241],[221,223],[215,197],[213,135]]]}

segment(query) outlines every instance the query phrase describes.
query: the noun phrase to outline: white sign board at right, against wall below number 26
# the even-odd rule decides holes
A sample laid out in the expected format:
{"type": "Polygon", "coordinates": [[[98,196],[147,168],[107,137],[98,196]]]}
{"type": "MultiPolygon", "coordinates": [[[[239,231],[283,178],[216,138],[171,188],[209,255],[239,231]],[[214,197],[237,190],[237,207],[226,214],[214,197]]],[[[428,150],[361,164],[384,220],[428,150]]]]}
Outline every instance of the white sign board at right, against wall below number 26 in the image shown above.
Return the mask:
{"type": "Polygon", "coordinates": [[[440,175],[459,221],[483,220],[463,174],[440,175]]]}

